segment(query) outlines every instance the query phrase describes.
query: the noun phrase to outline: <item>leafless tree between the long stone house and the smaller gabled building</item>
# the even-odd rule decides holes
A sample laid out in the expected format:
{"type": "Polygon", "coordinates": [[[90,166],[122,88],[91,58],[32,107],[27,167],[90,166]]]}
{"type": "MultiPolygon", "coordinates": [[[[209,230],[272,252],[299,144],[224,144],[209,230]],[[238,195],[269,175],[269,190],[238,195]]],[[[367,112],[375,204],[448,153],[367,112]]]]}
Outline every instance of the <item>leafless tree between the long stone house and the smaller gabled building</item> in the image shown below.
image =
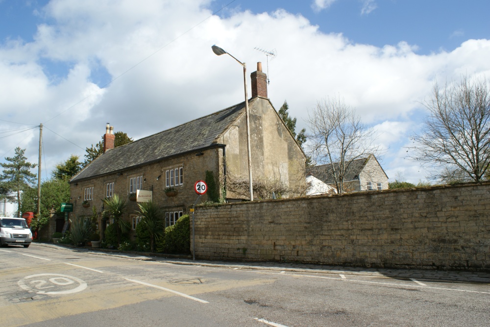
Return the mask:
{"type": "Polygon", "coordinates": [[[324,174],[333,180],[337,193],[344,191],[344,177],[357,159],[379,154],[375,130],[362,123],[354,108],[343,99],[327,98],[308,111],[309,152],[324,174]]]}

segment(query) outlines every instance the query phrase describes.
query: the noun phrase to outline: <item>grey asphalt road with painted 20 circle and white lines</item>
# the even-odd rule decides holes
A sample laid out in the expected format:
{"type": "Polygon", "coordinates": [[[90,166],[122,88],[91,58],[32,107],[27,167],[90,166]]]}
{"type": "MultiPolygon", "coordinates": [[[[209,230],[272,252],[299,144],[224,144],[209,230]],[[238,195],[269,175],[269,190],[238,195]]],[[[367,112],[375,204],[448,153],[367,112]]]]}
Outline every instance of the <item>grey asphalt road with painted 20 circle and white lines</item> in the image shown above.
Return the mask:
{"type": "Polygon", "coordinates": [[[0,249],[0,326],[489,326],[490,274],[0,249]]]}

